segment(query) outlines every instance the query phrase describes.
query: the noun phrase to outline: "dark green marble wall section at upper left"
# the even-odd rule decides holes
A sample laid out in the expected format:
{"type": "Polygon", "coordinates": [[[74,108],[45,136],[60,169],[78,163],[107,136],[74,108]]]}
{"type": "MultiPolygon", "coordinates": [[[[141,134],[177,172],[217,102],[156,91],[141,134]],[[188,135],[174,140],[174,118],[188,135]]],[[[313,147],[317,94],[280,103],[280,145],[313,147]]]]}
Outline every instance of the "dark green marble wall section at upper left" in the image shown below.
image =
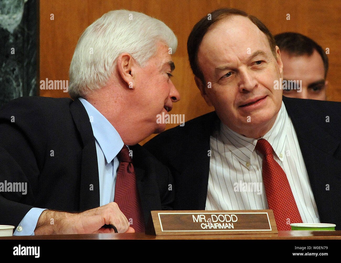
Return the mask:
{"type": "Polygon", "coordinates": [[[37,0],[0,1],[0,107],[37,94],[37,0]]]}

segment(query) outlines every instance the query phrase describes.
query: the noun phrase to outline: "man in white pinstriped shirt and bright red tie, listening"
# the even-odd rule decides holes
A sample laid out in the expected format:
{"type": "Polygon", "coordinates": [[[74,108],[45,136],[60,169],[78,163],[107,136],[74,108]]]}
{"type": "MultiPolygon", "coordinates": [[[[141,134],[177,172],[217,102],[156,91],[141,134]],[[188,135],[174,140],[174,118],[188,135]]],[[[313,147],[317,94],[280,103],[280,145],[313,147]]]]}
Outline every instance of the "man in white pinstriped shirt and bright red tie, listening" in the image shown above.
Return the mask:
{"type": "Polygon", "coordinates": [[[298,222],[341,229],[340,103],[282,98],[283,64],[269,30],[239,10],[210,14],[187,46],[195,82],[216,111],[144,145],[172,171],[174,209],[270,208],[279,230],[298,222]]]}

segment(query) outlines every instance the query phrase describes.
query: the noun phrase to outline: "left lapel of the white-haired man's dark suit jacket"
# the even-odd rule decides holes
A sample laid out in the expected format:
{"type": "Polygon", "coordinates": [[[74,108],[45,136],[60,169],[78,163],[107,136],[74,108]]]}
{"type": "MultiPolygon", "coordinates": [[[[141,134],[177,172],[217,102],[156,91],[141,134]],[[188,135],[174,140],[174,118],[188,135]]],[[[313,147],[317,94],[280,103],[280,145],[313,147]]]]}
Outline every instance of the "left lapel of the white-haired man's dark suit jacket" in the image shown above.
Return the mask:
{"type": "Polygon", "coordinates": [[[70,112],[83,142],[79,211],[85,211],[100,206],[97,151],[88,114],[78,99],[71,103],[70,112]]]}

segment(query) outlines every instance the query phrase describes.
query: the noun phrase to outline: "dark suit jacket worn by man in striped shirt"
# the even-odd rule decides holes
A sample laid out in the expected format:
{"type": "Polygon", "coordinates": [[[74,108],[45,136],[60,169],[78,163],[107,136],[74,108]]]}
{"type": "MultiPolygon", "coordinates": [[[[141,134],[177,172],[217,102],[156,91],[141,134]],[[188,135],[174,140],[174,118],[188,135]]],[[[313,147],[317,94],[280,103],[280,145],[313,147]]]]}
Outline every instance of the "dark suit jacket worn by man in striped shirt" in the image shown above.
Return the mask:
{"type": "MultiPolygon", "coordinates": [[[[283,102],[297,133],[320,220],[341,229],[341,103],[286,97],[283,102]]],[[[210,135],[219,123],[217,114],[210,112],[144,145],[172,171],[175,210],[205,209],[210,135]]]]}

